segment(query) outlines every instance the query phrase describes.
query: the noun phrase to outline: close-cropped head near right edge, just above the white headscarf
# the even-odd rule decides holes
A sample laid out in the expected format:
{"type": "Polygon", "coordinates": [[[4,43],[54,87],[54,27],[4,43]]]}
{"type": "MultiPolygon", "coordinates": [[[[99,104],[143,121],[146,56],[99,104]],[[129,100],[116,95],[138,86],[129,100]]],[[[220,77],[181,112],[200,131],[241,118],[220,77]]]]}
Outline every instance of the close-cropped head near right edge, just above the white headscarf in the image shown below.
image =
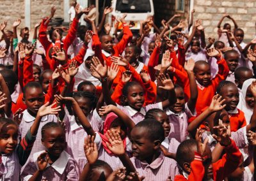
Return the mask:
{"type": "Polygon", "coordinates": [[[242,89],[244,81],[253,78],[252,70],[246,67],[239,67],[235,70],[235,82],[239,89],[242,89]]]}

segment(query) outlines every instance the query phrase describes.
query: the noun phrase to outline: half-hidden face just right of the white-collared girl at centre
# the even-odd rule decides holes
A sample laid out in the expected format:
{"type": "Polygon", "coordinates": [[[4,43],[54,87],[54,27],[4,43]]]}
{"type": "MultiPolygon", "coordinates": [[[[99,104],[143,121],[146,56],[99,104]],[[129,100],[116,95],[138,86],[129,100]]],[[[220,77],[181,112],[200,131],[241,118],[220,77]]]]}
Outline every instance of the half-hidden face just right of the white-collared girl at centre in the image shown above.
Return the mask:
{"type": "Polygon", "coordinates": [[[176,94],[177,101],[176,101],[175,105],[173,105],[171,107],[171,110],[174,113],[179,113],[184,108],[184,105],[185,105],[185,95],[184,95],[184,91],[183,91],[183,89],[181,87],[175,88],[175,94],[176,94]]]}

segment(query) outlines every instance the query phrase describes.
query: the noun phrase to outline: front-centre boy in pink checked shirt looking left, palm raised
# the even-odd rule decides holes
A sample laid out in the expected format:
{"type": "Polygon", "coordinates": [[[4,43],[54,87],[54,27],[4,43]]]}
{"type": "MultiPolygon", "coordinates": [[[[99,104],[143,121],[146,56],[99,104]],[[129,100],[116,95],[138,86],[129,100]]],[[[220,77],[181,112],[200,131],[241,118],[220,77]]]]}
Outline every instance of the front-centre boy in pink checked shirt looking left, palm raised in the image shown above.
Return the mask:
{"type": "Polygon", "coordinates": [[[177,163],[168,157],[164,157],[160,150],[161,142],[164,140],[164,129],[160,122],[154,119],[145,119],[132,129],[132,158],[131,161],[125,155],[124,145],[120,141],[118,133],[108,132],[109,150],[122,160],[127,170],[138,171],[145,180],[167,180],[174,179],[179,173],[177,163]],[[130,165],[130,167],[129,167],[130,165]]]}

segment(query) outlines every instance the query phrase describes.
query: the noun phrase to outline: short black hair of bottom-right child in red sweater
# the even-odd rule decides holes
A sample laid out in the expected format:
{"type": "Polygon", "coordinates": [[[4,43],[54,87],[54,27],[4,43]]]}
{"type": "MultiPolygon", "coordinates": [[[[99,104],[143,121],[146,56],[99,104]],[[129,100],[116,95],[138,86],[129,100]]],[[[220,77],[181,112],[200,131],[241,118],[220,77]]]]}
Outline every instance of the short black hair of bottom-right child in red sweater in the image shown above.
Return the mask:
{"type": "Polygon", "coordinates": [[[176,152],[176,161],[183,169],[184,163],[191,163],[195,158],[193,149],[196,147],[196,140],[184,140],[180,143],[176,152]]]}

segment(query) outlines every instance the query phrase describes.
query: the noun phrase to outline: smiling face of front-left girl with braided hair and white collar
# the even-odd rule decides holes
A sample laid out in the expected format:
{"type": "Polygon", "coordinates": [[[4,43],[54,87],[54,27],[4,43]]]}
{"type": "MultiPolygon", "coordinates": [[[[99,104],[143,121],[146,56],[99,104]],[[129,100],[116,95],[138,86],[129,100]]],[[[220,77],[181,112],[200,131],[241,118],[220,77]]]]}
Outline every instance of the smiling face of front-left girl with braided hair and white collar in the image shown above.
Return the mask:
{"type": "Polygon", "coordinates": [[[42,144],[50,155],[59,157],[66,147],[65,134],[61,127],[51,127],[45,129],[42,144]]]}

